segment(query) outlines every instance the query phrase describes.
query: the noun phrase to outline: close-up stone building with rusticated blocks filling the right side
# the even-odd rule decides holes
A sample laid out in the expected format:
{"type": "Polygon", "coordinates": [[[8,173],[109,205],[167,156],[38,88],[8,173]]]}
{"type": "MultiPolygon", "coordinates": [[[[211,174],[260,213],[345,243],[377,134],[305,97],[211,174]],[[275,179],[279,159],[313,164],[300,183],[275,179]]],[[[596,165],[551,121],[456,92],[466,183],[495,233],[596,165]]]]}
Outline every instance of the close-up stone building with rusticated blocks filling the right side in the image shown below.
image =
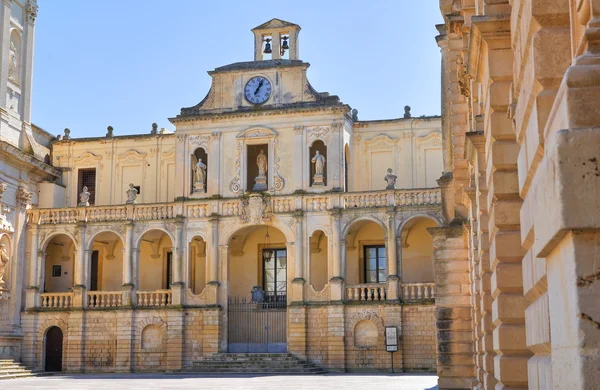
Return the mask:
{"type": "Polygon", "coordinates": [[[439,387],[598,388],[600,2],[440,7],[439,387]]]}

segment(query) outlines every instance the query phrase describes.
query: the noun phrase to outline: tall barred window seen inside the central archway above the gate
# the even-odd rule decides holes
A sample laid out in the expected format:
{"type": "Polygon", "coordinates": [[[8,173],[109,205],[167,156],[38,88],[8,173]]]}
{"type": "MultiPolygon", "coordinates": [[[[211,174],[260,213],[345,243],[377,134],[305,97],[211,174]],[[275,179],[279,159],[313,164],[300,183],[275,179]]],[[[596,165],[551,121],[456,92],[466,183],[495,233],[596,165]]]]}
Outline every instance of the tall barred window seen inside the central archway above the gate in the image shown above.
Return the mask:
{"type": "Polygon", "coordinates": [[[267,302],[287,301],[287,251],[263,249],[263,289],[267,302]]]}

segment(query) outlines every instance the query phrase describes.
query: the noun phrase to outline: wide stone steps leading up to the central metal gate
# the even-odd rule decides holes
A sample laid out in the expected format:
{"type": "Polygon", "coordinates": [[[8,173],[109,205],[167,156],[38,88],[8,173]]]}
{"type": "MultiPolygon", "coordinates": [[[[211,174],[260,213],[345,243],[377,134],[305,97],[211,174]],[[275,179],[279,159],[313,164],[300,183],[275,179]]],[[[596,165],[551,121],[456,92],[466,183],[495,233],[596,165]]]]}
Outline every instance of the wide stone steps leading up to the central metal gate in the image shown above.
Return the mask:
{"type": "Polygon", "coordinates": [[[214,374],[325,374],[289,353],[219,353],[194,362],[193,372],[214,374]]]}

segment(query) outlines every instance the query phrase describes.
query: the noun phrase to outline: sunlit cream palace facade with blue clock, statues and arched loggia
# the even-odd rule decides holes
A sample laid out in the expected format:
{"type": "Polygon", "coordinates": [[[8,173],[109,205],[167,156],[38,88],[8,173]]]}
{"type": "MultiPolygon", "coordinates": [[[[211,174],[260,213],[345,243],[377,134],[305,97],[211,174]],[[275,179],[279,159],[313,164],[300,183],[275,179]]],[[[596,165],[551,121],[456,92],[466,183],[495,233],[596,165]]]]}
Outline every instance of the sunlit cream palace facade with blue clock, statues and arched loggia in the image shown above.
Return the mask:
{"type": "Polygon", "coordinates": [[[7,148],[26,150],[30,133],[35,144],[29,160],[3,163],[39,166],[22,168],[29,181],[0,173],[3,358],[185,371],[218,354],[285,352],[382,371],[387,334],[396,368],[435,370],[440,117],[406,107],[361,121],[309,83],[300,26],[252,32],[254,60],[210,71],[174,131],[53,138],[22,116],[20,143],[2,133],[7,148]]]}

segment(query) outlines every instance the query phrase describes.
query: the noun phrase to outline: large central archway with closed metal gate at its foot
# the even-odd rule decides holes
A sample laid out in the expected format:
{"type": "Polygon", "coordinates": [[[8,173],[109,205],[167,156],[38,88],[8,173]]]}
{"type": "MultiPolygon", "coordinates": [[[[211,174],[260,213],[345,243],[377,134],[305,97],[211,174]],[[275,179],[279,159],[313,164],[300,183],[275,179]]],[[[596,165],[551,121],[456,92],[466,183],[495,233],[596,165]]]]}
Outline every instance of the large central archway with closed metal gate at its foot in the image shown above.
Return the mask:
{"type": "Polygon", "coordinates": [[[287,352],[288,245],[275,227],[242,228],[228,242],[230,353],[287,352]]]}

